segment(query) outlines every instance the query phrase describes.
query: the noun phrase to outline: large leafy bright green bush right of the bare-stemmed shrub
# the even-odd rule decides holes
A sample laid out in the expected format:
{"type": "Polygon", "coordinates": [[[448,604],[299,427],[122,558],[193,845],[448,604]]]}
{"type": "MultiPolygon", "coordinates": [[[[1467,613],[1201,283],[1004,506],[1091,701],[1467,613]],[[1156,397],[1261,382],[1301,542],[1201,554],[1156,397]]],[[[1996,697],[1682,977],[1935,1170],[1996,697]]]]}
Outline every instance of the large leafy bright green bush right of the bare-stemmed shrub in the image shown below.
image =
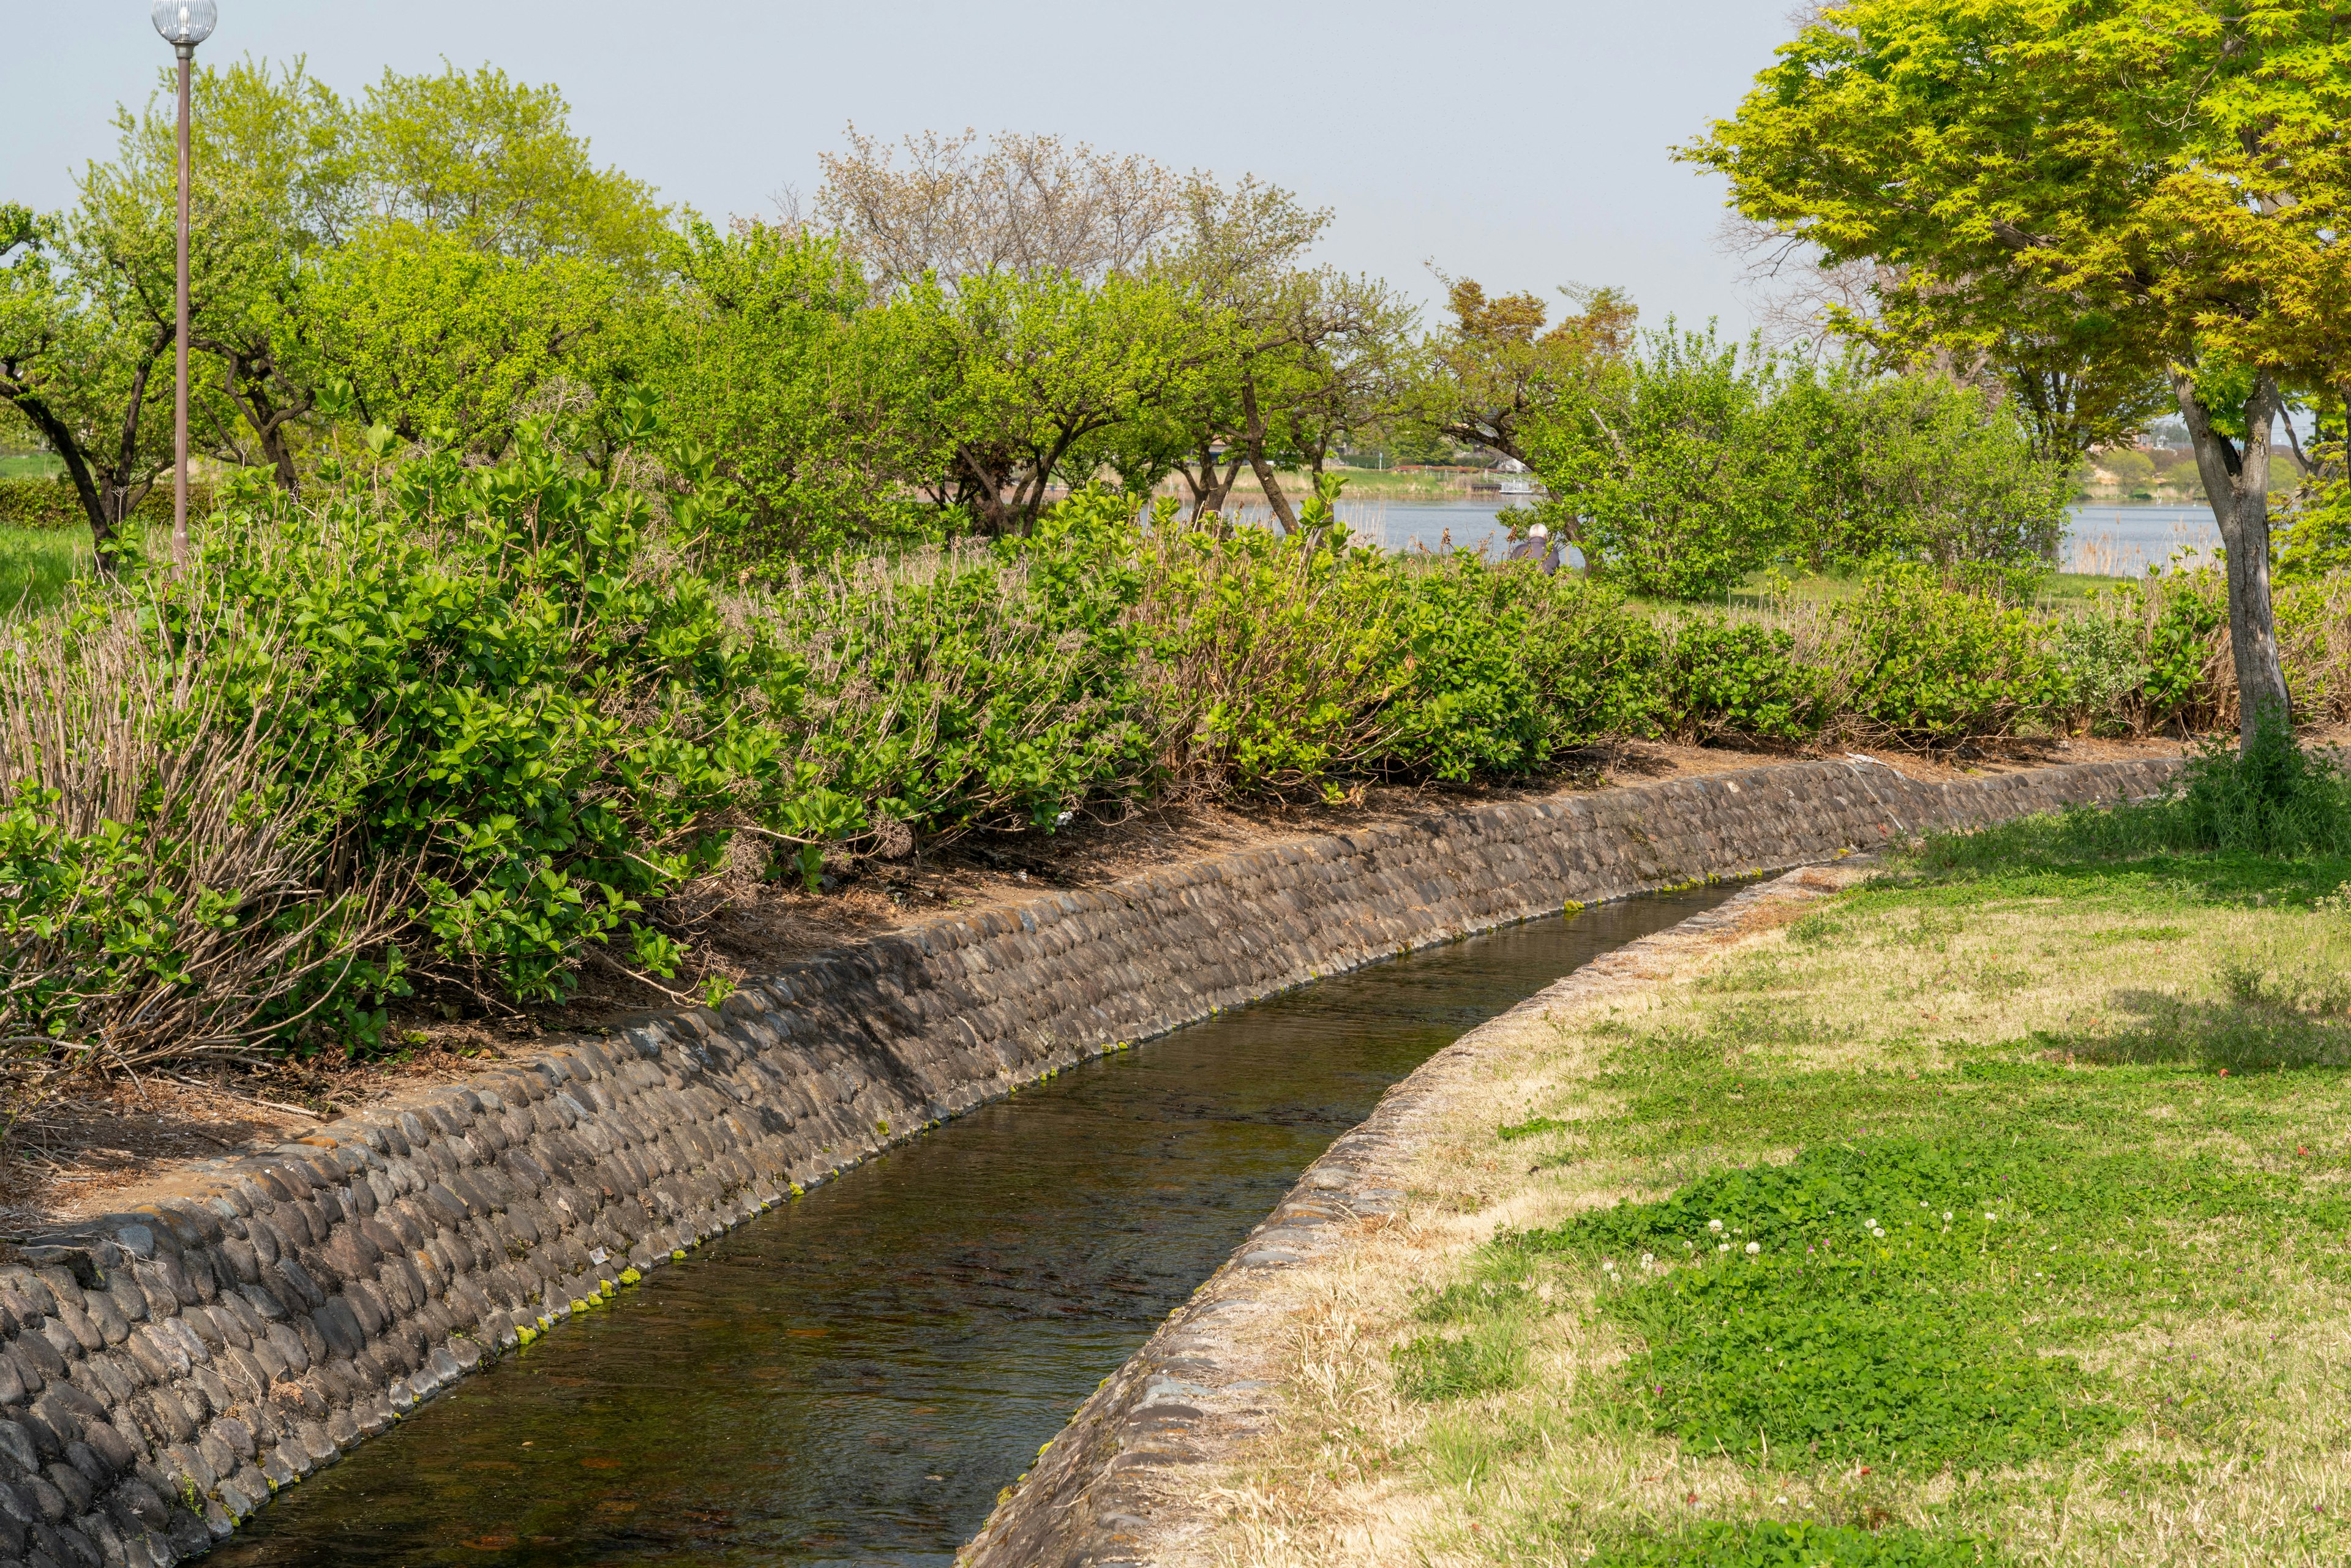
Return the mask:
{"type": "Polygon", "coordinates": [[[256,712],[277,759],[369,860],[414,865],[428,957],[522,999],[564,994],[583,945],[708,870],[745,792],[783,804],[762,719],[797,708],[799,663],[656,574],[644,522],[527,437],[324,512],[219,515],[205,571],[165,588],[169,625],[282,609],[315,693],[256,712]]]}

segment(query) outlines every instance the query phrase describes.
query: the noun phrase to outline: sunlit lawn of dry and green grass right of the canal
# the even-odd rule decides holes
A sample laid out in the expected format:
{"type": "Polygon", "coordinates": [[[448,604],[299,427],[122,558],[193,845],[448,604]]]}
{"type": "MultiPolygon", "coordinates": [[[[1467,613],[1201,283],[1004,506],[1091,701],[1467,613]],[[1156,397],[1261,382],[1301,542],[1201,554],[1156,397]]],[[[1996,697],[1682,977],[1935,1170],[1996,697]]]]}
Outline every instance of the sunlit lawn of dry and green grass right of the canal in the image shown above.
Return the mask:
{"type": "Polygon", "coordinates": [[[1502,1053],[1237,1556],[2344,1561],[2351,860],[2008,849],[1502,1053]]]}

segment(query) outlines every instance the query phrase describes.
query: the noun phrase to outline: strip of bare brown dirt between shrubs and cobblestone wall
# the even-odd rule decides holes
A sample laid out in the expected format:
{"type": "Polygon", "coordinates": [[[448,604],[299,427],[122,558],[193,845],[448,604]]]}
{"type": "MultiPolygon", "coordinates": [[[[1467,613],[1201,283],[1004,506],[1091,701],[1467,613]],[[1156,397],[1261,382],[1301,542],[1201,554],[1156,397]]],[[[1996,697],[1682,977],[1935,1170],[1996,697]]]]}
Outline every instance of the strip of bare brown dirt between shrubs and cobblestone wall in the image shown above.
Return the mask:
{"type": "MultiPolygon", "coordinates": [[[[2170,757],[2177,741],[2043,741],[1949,757],[1871,752],[1911,778],[1944,780],[2067,762],[2170,757]]],[[[1817,752],[1838,757],[1850,752],[1817,752]]],[[[1634,741],[1578,757],[1570,771],[1523,788],[1366,788],[1342,806],[1180,804],[1136,809],[1114,820],[1079,818],[1056,835],[973,835],[903,860],[828,867],[816,893],[762,882],[734,867],[661,910],[694,945],[698,969],[675,992],[597,954],[569,1004],[491,1011],[456,992],[423,994],[395,1011],[388,1056],[346,1060],[320,1053],[254,1067],[207,1067],[181,1077],[110,1081],[19,1121],[0,1150],[0,1229],[21,1234],[47,1220],[103,1213],[158,1164],[233,1150],[266,1150],[303,1138],[334,1117],[397,1093],[451,1081],[567,1032],[592,1032],[651,1009],[696,1001],[712,976],[743,980],[811,954],[912,926],[952,910],[990,910],[1046,889],[1091,889],[1161,865],[1279,844],[1349,827],[1401,823],[1432,811],[1540,799],[1561,790],[1608,790],[1695,778],[1775,762],[1796,752],[1634,741]]]]}

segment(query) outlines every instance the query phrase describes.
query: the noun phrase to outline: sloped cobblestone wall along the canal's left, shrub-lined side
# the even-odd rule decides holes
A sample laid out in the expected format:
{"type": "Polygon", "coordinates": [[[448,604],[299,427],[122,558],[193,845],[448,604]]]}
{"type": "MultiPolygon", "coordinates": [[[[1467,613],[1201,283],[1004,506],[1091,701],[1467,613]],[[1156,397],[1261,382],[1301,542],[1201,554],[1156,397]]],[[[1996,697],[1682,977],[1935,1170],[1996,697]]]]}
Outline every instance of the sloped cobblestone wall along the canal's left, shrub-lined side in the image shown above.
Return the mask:
{"type": "Polygon", "coordinates": [[[943,917],[548,1046],[0,1265],[0,1563],[172,1563],[484,1359],[940,1119],[1408,947],[1928,825],[2149,795],[1806,762],[1253,849],[943,917]]]}

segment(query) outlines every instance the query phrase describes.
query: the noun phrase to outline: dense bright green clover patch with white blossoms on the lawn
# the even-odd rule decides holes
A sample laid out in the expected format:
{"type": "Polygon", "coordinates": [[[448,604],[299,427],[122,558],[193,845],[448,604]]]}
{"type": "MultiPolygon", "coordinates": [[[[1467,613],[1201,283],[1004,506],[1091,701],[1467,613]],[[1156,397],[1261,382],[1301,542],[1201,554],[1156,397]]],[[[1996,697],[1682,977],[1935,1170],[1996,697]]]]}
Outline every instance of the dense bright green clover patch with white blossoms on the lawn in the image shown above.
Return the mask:
{"type": "Polygon", "coordinates": [[[1648,1347],[1625,1368],[1632,1399],[1686,1443],[1916,1472],[2012,1465],[2121,1425],[2095,1378],[2020,1347],[1984,1300],[1996,1260],[2041,1265],[2059,1220],[2118,1215],[2074,1175],[2020,1168],[2001,1145],[1810,1147],[1521,1246],[1669,1260],[1608,1312],[1648,1347]]]}

